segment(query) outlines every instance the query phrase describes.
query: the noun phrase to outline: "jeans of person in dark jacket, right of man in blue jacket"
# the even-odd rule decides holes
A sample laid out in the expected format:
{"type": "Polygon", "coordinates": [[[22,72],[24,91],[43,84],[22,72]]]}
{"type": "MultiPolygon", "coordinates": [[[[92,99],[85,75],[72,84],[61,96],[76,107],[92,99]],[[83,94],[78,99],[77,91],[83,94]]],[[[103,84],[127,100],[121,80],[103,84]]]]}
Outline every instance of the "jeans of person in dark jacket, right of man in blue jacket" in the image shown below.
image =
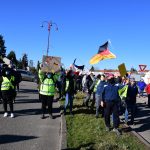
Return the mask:
{"type": "Polygon", "coordinates": [[[135,110],[136,110],[136,104],[126,104],[126,109],[125,109],[125,122],[128,122],[128,119],[129,119],[129,111],[131,111],[131,123],[134,122],[135,110]]]}

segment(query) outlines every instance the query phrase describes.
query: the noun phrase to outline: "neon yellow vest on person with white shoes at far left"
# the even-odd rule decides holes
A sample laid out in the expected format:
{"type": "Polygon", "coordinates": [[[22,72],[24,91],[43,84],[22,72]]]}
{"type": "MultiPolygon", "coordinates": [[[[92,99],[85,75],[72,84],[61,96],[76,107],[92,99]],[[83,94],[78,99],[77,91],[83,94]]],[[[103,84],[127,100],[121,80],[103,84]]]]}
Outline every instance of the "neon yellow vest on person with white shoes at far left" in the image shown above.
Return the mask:
{"type": "Polygon", "coordinates": [[[11,81],[8,80],[7,77],[3,77],[1,91],[8,91],[10,88],[14,89],[14,86],[12,85],[11,81]]]}

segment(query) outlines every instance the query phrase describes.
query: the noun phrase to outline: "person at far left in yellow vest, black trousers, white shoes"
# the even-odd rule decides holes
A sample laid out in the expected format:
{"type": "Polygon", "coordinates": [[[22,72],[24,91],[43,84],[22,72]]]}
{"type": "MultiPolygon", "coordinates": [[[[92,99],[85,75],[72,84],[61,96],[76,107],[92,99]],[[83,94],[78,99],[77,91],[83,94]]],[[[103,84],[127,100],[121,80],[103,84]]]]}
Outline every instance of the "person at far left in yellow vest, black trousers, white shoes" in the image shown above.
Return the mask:
{"type": "Polygon", "coordinates": [[[4,106],[4,117],[8,116],[7,112],[7,104],[10,107],[10,117],[14,118],[14,110],[13,110],[13,90],[14,86],[14,76],[11,74],[9,68],[4,68],[2,70],[2,83],[1,83],[1,92],[2,92],[2,99],[3,99],[3,106],[4,106]]]}

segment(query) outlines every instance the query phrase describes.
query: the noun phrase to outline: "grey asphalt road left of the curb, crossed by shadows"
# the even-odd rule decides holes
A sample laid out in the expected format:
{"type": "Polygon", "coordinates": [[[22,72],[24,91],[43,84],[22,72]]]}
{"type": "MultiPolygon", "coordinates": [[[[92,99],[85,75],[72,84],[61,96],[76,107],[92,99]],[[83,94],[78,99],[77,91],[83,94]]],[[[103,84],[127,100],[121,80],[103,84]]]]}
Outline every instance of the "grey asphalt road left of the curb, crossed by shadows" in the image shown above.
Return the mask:
{"type": "MultiPolygon", "coordinates": [[[[4,118],[0,104],[0,150],[58,150],[61,117],[53,103],[54,119],[41,119],[37,84],[22,81],[14,104],[15,118],[4,118]]],[[[9,110],[9,107],[8,107],[9,110]]]]}

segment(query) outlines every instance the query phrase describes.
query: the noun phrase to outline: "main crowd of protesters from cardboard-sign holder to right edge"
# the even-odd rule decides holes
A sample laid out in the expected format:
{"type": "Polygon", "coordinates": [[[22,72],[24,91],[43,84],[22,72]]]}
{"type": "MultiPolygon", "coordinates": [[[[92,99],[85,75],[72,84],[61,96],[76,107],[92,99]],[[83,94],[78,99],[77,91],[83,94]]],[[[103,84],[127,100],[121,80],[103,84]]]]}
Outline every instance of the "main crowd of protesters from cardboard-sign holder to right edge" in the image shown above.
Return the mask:
{"type": "MultiPolygon", "coordinates": [[[[134,124],[136,99],[137,96],[143,97],[144,90],[148,94],[148,107],[150,107],[150,84],[146,85],[142,79],[136,82],[134,78],[130,78],[128,75],[125,77],[115,77],[113,74],[107,76],[98,74],[95,76],[92,72],[88,74],[79,74],[72,70],[61,70],[59,74],[45,73],[43,75],[41,74],[41,70],[39,70],[39,78],[41,81],[40,98],[43,109],[42,118],[44,118],[45,104],[48,104],[49,101],[51,101],[51,103],[48,105],[48,109],[52,110],[52,101],[55,95],[53,86],[58,90],[58,99],[65,97],[63,107],[64,114],[66,114],[66,109],[69,104],[70,115],[73,115],[74,95],[78,91],[84,92],[86,96],[85,99],[83,99],[82,105],[87,107],[87,109],[93,109],[95,107],[96,118],[99,117],[99,113],[101,112],[101,116],[104,117],[106,129],[108,131],[110,130],[110,117],[112,117],[113,130],[119,133],[119,115],[122,113],[124,114],[126,124],[134,124]],[[50,82],[50,80],[53,82],[50,82]],[[43,87],[45,88],[45,93],[41,92],[43,87]],[[51,88],[48,89],[48,87],[51,88]],[[47,102],[42,98],[42,95],[46,95],[46,93],[48,93],[48,98],[46,98],[47,102]],[[49,100],[51,96],[52,98],[49,100]],[[92,102],[89,106],[91,100],[92,102]],[[130,121],[129,112],[131,113],[130,121]]],[[[50,116],[52,116],[52,111],[49,111],[49,113],[50,116]]]]}

